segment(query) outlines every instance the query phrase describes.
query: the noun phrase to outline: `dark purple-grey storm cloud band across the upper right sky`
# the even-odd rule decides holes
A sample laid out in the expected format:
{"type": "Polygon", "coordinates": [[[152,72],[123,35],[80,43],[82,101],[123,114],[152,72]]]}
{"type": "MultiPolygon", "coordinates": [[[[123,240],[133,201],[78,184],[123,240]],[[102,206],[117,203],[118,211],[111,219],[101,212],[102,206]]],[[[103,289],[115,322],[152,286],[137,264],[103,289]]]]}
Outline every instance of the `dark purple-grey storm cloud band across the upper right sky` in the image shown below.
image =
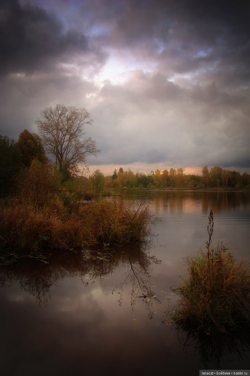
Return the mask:
{"type": "Polygon", "coordinates": [[[102,25],[96,39],[102,46],[128,49],[132,59],[152,60],[169,74],[195,70],[197,80],[216,77],[229,86],[249,80],[248,1],[94,1],[82,7],[90,25],[102,25]]]}

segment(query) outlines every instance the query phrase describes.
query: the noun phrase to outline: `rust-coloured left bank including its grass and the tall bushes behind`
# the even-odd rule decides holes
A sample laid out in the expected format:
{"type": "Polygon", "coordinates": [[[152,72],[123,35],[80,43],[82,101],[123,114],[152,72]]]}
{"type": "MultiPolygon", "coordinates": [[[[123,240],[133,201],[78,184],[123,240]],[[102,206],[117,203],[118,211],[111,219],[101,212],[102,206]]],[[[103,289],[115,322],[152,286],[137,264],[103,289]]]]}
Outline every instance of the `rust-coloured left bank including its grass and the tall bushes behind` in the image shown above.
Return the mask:
{"type": "Polygon", "coordinates": [[[12,196],[0,201],[0,249],[33,251],[137,243],[149,234],[153,218],[147,193],[131,208],[99,196],[84,205],[82,187],[74,194],[65,193],[57,171],[36,161],[17,181],[12,196]]]}

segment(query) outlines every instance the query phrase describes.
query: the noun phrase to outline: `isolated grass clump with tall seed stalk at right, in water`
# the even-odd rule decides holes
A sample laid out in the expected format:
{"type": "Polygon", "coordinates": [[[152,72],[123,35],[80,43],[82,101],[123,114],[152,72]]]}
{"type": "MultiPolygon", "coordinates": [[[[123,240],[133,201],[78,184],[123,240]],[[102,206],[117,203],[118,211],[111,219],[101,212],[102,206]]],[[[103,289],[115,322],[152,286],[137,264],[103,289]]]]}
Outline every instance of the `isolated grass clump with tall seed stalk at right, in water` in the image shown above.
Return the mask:
{"type": "Polygon", "coordinates": [[[185,329],[207,334],[250,324],[250,265],[235,260],[223,242],[210,248],[211,223],[209,229],[208,252],[185,258],[189,278],[173,289],[181,299],[172,317],[185,329]]]}

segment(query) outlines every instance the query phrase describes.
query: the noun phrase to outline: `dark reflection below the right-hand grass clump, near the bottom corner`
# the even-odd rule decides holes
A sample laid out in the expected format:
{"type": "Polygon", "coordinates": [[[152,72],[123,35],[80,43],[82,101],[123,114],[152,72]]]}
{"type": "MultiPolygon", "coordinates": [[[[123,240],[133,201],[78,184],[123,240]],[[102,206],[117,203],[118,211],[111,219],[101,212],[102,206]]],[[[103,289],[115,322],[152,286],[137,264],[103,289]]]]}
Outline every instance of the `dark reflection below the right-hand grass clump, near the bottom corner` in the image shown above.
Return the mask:
{"type": "MultiPolygon", "coordinates": [[[[250,361],[250,328],[230,334],[199,334],[177,327],[177,335],[186,352],[199,352],[206,369],[225,369],[230,361],[250,361]]],[[[229,367],[230,368],[230,367],[229,367]]]]}

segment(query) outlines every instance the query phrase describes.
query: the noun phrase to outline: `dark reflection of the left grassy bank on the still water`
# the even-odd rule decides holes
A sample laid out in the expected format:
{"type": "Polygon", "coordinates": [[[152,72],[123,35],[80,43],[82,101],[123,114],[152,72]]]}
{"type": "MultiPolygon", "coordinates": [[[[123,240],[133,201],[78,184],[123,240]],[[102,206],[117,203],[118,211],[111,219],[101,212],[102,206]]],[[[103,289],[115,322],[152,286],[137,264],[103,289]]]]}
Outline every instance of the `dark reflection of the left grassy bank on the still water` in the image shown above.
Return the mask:
{"type": "Polygon", "coordinates": [[[33,258],[27,256],[24,260],[2,265],[0,281],[5,287],[19,284],[40,305],[48,302],[51,287],[61,279],[80,277],[83,284],[93,284],[96,280],[101,281],[111,275],[122,265],[130,266],[130,275],[134,275],[131,296],[134,296],[138,284],[143,294],[150,295],[148,269],[156,262],[158,260],[149,254],[149,244],[96,248],[82,252],[56,252],[47,259],[43,259],[42,255],[33,258]]]}

